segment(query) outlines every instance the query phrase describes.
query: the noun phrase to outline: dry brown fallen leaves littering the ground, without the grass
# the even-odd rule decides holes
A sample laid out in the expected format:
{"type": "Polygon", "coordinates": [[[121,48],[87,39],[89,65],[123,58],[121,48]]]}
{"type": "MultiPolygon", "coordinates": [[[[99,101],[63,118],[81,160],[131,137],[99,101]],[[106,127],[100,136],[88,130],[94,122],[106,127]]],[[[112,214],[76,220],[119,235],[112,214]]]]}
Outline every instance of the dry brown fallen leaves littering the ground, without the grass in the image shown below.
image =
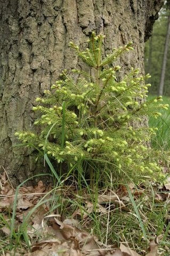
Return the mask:
{"type": "MultiPolygon", "coordinates": [[[[169,180],[168,180],[169,182],[169,180]]],[[[166,189],[169,189],[167,184],[166,189]]],[[[139,196],[143,190],[135,191],[133,186],[129,186],[133,191],[134,196],[139,196]]],[[[0,214],[2,215],[7,225],[1,225],[0,238],[6,239],[10,236],[10,214],[13,211],[13,203],[15,197],[15,189],[6,180],[5,172],[1,177],[0,182],[0,214]]],[[[74,190],[71,188],[71,190],[74,190]]],[[[44,195],[52,196],[49,191],[50,187],[45,187],[42,181],[39,181],[37,186],[20,187],[17,195],[17,210],[15,212],[15,225],[17,231],[25,218],[28,218],[27,235],[30,238],[30,251],[21,250],[16,252],[3,252],[4,256],[156,256],[158,252],[158,243],[156,239],[149,243],[149,252],[145,254],[138,254],[128,247],[128,245],[120,242],[119,248],[112,245],[106,245],[98,241],[98,238],[93,234],[87,232],[80,225],[77,215],[81,215],[83,219],[94,211],[94,204],[90,198],[86,197],[84,200],[84,210],[78,209],[69,219],[62,220],[60,214],[49,214],[49,207],[47,204],[39,204],[39,201],[44,195]],[[33,210],[31,212],[31,210],[33,210]],[[30,214],[31,212],[31,214],[30,214]]],[[[105,191],[106,192],[106,191],[105,191]]],[[[95,212],[107,214],[107,203],[114,204],[120,211],[131,213],[131,210],[125,205],[123,201],[129,202],[127,191],[125,187],[120,188],[117,194],[114,191],[98,195],[95,204],[95,212]],[[120,195],[122,194],[121,200],[120,195]]],[[[157,198],[161,201],[161,196],[157,198]]],[[[1,248],[1,244],[0,244],[1,248]]]]}

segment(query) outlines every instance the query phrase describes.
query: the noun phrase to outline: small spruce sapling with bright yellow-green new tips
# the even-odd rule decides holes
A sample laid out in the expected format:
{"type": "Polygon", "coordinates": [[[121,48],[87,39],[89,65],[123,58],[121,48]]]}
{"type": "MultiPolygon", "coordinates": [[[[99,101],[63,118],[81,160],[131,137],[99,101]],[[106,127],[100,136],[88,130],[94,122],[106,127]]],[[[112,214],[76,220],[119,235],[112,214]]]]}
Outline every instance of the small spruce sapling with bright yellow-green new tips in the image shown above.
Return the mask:
{"type": "Polygon", "coordinates": [[[52,85],[53,91],[45,90],[45,97],[37,98],[39,105],[33,107],[42,113],[34,123],[42,127],[41,134],[24,131],[15,135],[61,166],[64,163],[65,169],[67,164],[68,173],[77,170],[91,181],[96,173],[104,181],[107,172],[119,182],[161,179],[164,175],[154,161],[154,151],[146,146],[156,129],[132,127],[132,123],[145,115],[157,118],[159,109],[168,105],[157,102],[161,97],[143,101],[150,86],[145,79],[150,76],[139,76],[139,69],[131,68],[118,82],[120,67],[113,67],[112,62],[133,50],[132,42],[103,58],[103,38],[92,33],[86,51],[70,42],[94,75],[74,69],[71,76],[64,70],[61,80],[52,85]]]}

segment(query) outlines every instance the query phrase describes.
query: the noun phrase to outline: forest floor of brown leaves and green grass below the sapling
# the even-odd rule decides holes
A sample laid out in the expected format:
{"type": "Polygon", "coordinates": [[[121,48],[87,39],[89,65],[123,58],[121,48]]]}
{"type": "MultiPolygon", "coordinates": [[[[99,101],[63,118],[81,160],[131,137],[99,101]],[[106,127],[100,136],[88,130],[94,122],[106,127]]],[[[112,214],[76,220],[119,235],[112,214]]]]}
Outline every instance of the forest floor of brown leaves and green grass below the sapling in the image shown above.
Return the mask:
{"type": "MultiPolygon", "coordinates": [[[[166,169],[167,170],[167,169],[166,169]]],[[[0,254],[169,255],[170,179],[162,187],[89,191],[76,185],[12,187],[1,177],[0,254]]]]}

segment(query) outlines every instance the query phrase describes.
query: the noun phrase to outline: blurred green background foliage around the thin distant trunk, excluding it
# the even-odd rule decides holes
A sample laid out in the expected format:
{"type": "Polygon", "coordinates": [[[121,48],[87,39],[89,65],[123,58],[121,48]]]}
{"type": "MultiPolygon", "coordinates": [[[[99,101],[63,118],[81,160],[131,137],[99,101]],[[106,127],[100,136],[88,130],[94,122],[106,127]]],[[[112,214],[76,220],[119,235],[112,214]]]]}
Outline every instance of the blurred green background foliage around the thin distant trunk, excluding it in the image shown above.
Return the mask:
{"type": "MultiPolygon", "coordinates": [[[[169,15],[169,7],[164,5],[163,9],[159,14],[159,19],[155,22],[153,26],[152,36],[145,43],[145,73],[151,75],[150,83],[151,88],[149,93],[156,95],[158,93],[161,65],[163,61],[164,45],[167,32],[167,22],[169,15]]],[[[164,95],[170,96],[170,45],[168,50],[166,74],[165,74],[165,84],[164,84],[164,95]]]]}

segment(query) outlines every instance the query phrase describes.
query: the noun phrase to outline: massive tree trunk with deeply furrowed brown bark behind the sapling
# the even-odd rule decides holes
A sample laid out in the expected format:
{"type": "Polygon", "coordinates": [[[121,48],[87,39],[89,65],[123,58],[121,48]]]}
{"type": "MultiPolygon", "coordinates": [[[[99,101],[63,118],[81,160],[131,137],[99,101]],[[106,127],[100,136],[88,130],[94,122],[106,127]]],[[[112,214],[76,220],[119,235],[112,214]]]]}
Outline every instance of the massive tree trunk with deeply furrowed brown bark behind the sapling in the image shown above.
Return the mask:
{"type": "MultiPolygon", "coordinates": [[[[0,0],[0,164],[15,183],[38,172],[33,154],[18,143],[16,131],[30,130],[35,98],[63,68],[76,68],[70,41],[86,47],[92,31],[106,35],[105,53],[134,42],[120,62],[144,73],[144,38],[150,36],[163,0],[0,0]]],[[[119,63],[117,63],[119,64],[119,63]]],[[[124,71],[123,70],[123,71],[124,71]]]]}

